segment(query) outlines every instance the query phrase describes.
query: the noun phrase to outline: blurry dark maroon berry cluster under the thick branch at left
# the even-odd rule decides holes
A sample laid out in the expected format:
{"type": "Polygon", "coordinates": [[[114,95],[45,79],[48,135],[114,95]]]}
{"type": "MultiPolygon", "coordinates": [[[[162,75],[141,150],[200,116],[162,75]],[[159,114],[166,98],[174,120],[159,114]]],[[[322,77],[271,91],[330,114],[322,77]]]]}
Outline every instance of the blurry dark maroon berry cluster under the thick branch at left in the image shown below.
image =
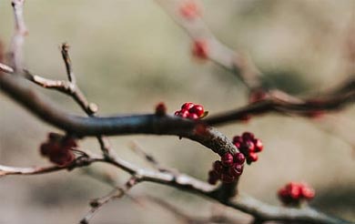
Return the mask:
{"type": "Polygon", "coordinates": [[[66,166],[76,157],[71,148],[76,148],[76,141],[72,137],[62,136],[56,133],[49,133],[48,139],[40,147],[42,156],[56,165],[66,166]]]}

